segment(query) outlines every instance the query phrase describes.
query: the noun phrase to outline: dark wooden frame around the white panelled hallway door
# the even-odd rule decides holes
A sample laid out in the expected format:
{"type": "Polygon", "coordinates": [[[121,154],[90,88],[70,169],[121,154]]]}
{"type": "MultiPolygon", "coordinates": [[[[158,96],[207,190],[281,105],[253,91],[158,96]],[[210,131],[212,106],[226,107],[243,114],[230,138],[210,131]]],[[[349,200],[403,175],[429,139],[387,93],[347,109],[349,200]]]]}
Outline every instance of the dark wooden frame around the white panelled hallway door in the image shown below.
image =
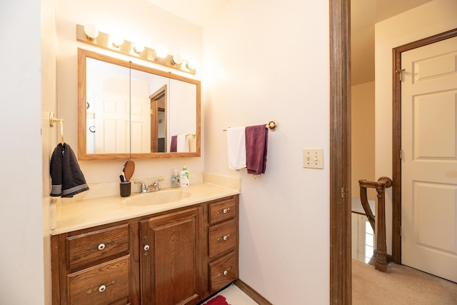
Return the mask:
{"type": "Polygon", "coordinates": [[[433,35],[425,39],[403,44],[392,49],[392,259],[401,264],[401,53],[457,36],[457,29],[433,35]]]}

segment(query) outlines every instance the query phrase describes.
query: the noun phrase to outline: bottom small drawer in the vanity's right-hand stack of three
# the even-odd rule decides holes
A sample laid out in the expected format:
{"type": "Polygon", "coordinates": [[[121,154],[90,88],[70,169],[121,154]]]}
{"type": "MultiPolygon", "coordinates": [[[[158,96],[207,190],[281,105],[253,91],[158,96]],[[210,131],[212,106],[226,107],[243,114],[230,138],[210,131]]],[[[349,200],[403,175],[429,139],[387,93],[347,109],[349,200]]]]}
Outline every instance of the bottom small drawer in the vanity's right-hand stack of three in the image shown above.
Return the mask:
{"type": "Polygon", "coordinates": [[[236,280],[238,277],[236,261],[235,252],[231,252],[209,264],[211,294],[236,280]]]}

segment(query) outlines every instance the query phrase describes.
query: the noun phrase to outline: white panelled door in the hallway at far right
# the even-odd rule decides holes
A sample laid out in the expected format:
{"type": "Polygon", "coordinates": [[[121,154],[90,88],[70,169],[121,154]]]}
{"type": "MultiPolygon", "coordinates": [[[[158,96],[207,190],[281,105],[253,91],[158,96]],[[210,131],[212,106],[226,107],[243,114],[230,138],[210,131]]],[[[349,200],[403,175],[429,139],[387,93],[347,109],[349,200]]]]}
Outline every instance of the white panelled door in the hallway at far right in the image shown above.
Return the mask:
{"type": "Polygon", "coordinates": [[[457,282],[457,37],[401,63],[402,264],[457,282]]]}

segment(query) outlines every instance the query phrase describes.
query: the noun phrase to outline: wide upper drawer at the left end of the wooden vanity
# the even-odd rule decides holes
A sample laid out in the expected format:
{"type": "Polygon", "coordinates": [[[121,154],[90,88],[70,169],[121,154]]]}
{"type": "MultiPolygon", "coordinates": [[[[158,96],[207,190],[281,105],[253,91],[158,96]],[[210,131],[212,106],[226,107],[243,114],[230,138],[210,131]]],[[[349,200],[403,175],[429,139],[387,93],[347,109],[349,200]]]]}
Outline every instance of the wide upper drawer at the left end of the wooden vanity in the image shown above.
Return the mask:
{"type": "Polygon", "coordinates": [[[129,251],[129,224],[66,238],[69,269],[129,251]]]}

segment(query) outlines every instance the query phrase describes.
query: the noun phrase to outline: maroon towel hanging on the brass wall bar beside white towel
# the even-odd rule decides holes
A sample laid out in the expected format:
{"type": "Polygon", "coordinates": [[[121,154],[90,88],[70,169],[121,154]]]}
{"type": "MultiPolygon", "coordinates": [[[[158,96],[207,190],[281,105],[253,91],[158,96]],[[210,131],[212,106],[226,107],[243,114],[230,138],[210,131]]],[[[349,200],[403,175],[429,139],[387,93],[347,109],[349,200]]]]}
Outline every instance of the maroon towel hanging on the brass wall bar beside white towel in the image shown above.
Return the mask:
{"type": "Polygon", "coordinates": [[[248,174],[265,174],[268,129],[265,124],[246,127],[246,169],[248,174]]]}

